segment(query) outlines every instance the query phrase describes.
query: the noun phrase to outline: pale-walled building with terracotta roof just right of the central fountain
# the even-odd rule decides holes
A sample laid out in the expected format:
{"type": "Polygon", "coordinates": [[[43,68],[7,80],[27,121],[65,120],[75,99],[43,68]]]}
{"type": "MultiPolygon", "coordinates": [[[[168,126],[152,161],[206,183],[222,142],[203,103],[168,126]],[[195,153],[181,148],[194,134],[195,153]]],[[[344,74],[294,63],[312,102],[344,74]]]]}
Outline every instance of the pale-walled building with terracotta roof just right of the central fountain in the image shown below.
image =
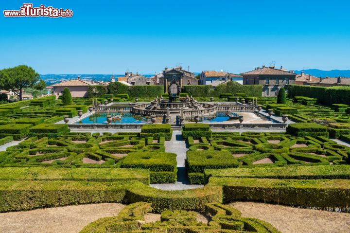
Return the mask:
{"type": "Polygon", "coordinates": [[[228,72],[217,71],[202,71],[199,78],[199,84],[211,85],[213,82],[219,81],[236,81],[239,84],[243,84],[243,76],[228,72]],[[227,76],[228,75],[228,76],[227,76]]]}

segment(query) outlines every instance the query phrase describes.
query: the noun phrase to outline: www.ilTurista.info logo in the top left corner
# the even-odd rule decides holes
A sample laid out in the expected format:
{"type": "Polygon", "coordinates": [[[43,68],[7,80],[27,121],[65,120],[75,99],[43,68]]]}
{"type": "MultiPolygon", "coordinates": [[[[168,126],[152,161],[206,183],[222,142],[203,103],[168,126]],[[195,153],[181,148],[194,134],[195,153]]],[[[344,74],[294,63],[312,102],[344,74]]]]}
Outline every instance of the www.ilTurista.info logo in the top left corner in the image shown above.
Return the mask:
{"type": "Polygon", "coordinates": [[[73,11],[40,5],[33,7],[33,3],[24,3],[19,10],[5,10],[4,17],[72,17],[73,11]]]}

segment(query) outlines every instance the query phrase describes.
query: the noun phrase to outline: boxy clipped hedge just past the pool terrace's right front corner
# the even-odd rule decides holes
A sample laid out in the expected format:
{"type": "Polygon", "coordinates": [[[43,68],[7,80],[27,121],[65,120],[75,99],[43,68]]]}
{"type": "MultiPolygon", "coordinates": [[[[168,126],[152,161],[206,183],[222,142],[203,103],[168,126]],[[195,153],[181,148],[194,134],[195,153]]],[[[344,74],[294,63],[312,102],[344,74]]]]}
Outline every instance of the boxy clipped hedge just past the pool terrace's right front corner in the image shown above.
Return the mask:
{"type": "Polygon", "coordinates": [[[287,134],[297,137],[305,136],[325,136],[328,138],[327,127],[316,123],[294,123],[289,124],[286,129],[287,134]]]}

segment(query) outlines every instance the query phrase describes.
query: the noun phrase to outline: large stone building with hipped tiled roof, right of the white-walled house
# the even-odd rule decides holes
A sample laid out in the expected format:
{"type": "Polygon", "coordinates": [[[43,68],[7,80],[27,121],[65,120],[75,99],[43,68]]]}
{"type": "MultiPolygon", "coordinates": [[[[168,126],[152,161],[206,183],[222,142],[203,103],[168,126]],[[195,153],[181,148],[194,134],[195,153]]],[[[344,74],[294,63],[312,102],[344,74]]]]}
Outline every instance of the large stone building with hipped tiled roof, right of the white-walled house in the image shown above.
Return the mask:
{"type": "Polygon", "coordinates": [[[287,85],[295,84],[296,73],[275,69],[274,66],[255,68],[253,71],[245,72],[243,85],[262,85],[262,96],[277,96],[281,87],[287,90],[287,85]]]}

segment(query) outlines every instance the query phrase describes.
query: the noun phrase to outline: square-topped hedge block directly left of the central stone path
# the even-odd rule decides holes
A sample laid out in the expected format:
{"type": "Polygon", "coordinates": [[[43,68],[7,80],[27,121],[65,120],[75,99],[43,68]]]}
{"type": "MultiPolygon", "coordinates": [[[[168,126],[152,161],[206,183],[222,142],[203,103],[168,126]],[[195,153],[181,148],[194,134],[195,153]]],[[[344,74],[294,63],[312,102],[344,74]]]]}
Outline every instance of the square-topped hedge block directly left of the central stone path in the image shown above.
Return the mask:
{"type": "Polygon", "coordinates": [[[123,168],[150,170],[150,183],[175,183],[176,154],[166,152],[133,152],[122,161],[123,168]]]}

